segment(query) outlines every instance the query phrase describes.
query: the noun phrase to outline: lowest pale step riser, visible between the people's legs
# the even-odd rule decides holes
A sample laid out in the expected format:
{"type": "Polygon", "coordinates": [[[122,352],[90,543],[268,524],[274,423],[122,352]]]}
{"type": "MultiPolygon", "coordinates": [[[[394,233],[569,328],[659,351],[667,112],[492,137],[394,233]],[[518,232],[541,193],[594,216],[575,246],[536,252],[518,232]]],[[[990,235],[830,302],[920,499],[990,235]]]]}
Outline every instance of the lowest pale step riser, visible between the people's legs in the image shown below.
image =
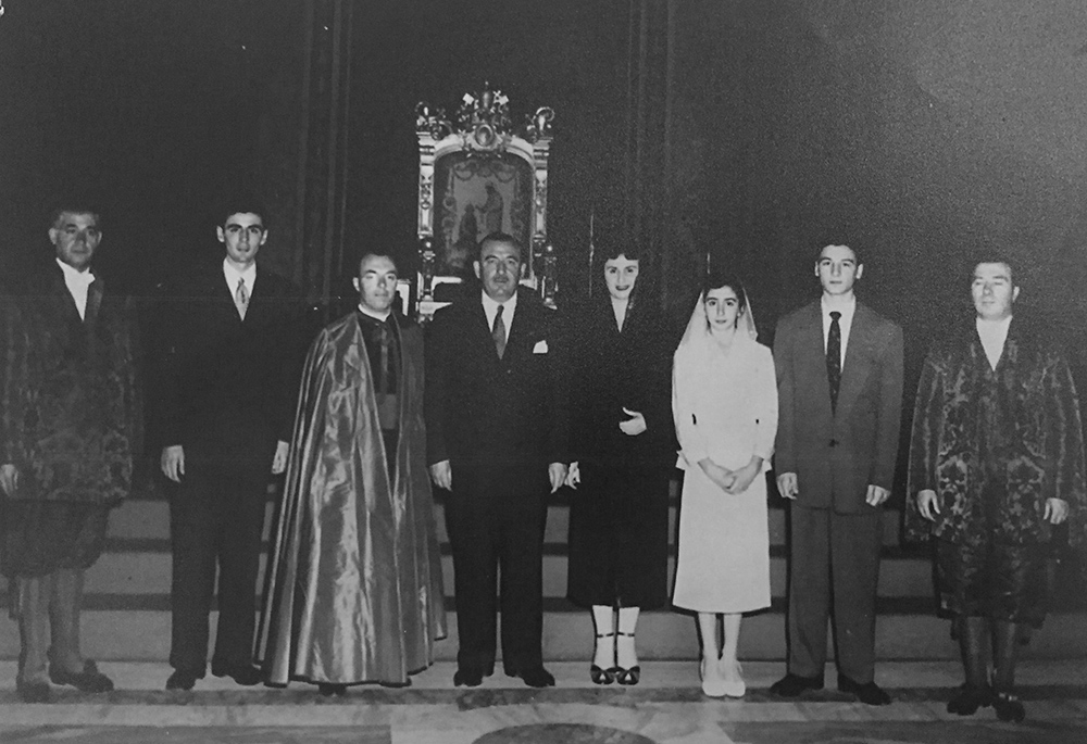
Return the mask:
{"type": "MultiPolygon", "coordinates": [[[[90,598],[90,597],[89,597],[90,598]]],[[[99,597],[102,598],[102,597],[99,597]]],[[[124,597],[128,602],[139,597],[124,597]]],[[[170,611],[167,597],[157,597],[158,607],[126,609],[123,603],[95,608],[88,602],[83,613],[83,650],[102,660],[163,660],[170,654],[170,611]]],[[[146,598],[143,603],[146,604],[146,598]]],[[[552,605],[553,603],[547,603],[552,605]]],[[[950,623],[928,611],[896,613],[880,603],[876,622],[876,656],[879,659],[955,659],[958,647],[950,636],[950,623]]],[[[905,607],[905,609],[917,609],[905,607]]],[[[214,620],[212,613],[212,643],[214,620]]],[[[438,643],[441,660],[455,659],[457,614],[448,614],[450,638],[438,643]]],[[[588,658],[592,647],[592,622],[589,613],[575,608],[549,607],[544,621],[545,657],[553,660],[588,658]]],[[[833,648],[828,653],[833,656],[833,648]]],[[[690,615],[667,610],[647,611],[638,625],[638,650],[646,659],[696,658],[698,639],[690,615]]],[[[15,623],[0,623],[0,658],[18,655],[15,623]]],[[[782,660],[785,658],[785,615],[764,611],[745,619],[740,656],[746,659],[782,660]]],[[[1079,613],[1051,615],[1023,650],[1024,658],[1087,657],[1087,616],[1079,613]]]]}

